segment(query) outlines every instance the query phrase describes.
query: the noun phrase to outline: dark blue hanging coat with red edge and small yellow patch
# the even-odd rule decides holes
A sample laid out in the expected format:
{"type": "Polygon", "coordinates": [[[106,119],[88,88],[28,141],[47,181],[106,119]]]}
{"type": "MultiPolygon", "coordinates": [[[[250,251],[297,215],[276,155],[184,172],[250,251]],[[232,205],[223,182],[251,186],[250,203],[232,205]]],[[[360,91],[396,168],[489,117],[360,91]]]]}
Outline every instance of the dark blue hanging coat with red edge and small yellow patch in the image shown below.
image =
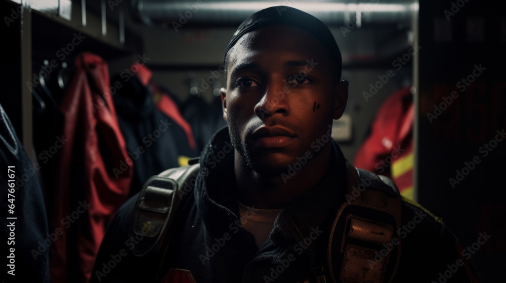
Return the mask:
{"type": "Polygon", "coordinates": [[[118,76],[114,95],[119,126],[126,142],[129,164],[134,164],[130,195],[139,192],[146,180],[160,172],[187,165],[198,156],[191,127],[177,105],[150,83],[151,71],[140,64],[130,68],[134,75],[118,76]],[[157,101],[154,101],[156,90],[157,101]]]}

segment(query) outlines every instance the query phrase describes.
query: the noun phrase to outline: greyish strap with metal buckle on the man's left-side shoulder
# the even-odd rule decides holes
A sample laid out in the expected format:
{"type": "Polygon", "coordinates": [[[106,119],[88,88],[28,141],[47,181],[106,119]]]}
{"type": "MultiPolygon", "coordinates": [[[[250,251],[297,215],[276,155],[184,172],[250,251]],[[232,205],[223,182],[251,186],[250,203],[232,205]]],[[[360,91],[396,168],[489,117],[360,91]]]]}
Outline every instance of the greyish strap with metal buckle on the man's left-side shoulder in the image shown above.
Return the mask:
{"type": "Polygon", "coordinates": [[[188,163],[191,165],[168,169],[149,178],[137,198],[129,238],[137,240],[132,251],[143,279],[158,279],[172,231],[170,226],[178,207],[185,205],[189,199],[185,196],[195,185],[200,169],[198,158],[188,163]]]}

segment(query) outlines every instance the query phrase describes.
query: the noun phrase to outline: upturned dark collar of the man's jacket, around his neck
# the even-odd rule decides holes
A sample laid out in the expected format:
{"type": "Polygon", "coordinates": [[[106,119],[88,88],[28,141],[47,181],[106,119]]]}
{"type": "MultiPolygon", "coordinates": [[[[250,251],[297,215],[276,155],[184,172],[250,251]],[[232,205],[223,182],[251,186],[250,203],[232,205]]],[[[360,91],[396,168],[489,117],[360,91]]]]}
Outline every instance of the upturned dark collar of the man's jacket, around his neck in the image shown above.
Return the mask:
{"type": "MultiPolygon", "coordinates": [[[[330,218],[331,224],[345,202],[347,161],[335,141],[330,140],[333,158],[326,173],[308,190],[308,194],[279,214],[269,237],[274,243],[293,245],[304,242],[315,229],[322,230],[330,218]]],[[[209,140],[199,162],[195,202],[206,227],[220,235],[230,229],[230,225],[240,223],[234,190],[234,149],[228,127],[219,130],[209,140]]],[[[324,233],[328,234],[328,231],[324,233]]]]}

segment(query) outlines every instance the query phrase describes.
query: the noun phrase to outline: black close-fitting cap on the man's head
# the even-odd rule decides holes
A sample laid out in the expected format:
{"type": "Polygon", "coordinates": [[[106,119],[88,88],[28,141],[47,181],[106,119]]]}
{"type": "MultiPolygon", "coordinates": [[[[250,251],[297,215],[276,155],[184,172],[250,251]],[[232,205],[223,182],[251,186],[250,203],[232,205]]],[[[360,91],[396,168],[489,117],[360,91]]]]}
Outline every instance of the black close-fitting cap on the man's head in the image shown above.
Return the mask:
{"type": "Polygon", "coordinates": [[[291,8],[288,6],[269,7],[260,10],[253,15],[249,16],[244,22],[239,25],[239,28],[234,33],[225,51],[223,64],[225,65],[225,58],[228,51],[244,34],[259,29],[267,25],[290,25],[305,29],[316,37],[328,49],[330,56],[334,57],[341,76],[341,51],[339,50],[338,43],[335,42],[332,32],[328,27],[318,18],[303,12],[301,10],[291,8]]]}

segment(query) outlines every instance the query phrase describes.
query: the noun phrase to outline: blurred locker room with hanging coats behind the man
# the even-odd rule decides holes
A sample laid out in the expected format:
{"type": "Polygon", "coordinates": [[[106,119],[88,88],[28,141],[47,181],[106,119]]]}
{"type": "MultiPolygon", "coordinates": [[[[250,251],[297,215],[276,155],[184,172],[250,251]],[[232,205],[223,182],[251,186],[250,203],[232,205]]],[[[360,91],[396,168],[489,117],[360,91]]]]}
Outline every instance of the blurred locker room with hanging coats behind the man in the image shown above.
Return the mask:
{"type": "Polygon", "coordinates": [[[35,196],[23,201],[31,211],[17,199],[17,213],[23,225],[39,223],[26,229],[19,255],[19,265],[38,266],[27,278],[44,278],[50,266],[51,281],[88,280],[122,202],[149,176],[199,156],[226,126],[224,51],[244,19],[277,5],[318,17],[340,46],[350,97],[332,135],[345,157],[392,177],[463,248],[491,235],[471,260],[482,281],[504,279],[506,16],[498,4],[0,0],[0,105],[26,152],[15,154],[24,158],[20,198],[35,196]]]}

